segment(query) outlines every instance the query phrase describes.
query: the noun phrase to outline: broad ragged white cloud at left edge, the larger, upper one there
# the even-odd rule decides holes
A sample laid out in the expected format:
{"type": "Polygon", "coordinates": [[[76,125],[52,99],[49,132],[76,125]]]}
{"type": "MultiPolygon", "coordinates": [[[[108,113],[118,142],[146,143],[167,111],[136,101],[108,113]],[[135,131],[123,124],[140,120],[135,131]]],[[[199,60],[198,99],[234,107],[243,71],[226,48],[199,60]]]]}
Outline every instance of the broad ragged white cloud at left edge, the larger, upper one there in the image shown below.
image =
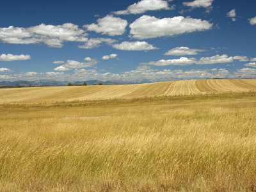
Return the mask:
{"type": "Polygon", "coordinates": [[[8,44],[38,44],[62,47],[63,42],[86,42],[87,34],[72,23],[63,25],[40,24],[29,28],[0,28],[0,39],[8,44]]]}

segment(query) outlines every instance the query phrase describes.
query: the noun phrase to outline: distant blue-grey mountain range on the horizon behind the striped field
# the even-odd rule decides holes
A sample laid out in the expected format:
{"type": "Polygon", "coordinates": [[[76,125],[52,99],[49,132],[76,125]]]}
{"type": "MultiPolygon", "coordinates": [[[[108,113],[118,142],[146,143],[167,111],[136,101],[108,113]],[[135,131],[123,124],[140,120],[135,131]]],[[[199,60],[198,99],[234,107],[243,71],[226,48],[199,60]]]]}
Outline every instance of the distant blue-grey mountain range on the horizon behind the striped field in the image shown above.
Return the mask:
{"type": "MultiPolygon", "coordinates": [[[[132,84],[126,81],[99,81],[99,80],[89,80],[89,81],[76,81],[71,82],[73,85],[82,85],[84,82],[88,85],[92,84],[132,84]]],[[[14,87],[28,87],[28,86],[67,86],[68,81],[0,81],[1,88],[14,88],[14,87]]],[[[142,82],[141,82],[142,83],[142,82]]],[[[149,82],[147,82],[149,83],[149,82]]]]}

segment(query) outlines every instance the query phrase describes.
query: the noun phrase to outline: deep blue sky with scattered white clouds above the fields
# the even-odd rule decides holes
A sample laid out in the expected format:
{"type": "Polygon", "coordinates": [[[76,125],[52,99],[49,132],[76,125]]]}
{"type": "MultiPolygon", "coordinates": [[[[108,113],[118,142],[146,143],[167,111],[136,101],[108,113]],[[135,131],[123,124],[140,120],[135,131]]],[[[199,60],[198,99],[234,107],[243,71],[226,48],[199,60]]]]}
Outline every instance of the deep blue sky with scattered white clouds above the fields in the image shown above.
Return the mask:
{"type": "Polygon", "coordinates": [[[1,0],[0,81],[256,78],[255,7],[255,0],[1,0]]]}

